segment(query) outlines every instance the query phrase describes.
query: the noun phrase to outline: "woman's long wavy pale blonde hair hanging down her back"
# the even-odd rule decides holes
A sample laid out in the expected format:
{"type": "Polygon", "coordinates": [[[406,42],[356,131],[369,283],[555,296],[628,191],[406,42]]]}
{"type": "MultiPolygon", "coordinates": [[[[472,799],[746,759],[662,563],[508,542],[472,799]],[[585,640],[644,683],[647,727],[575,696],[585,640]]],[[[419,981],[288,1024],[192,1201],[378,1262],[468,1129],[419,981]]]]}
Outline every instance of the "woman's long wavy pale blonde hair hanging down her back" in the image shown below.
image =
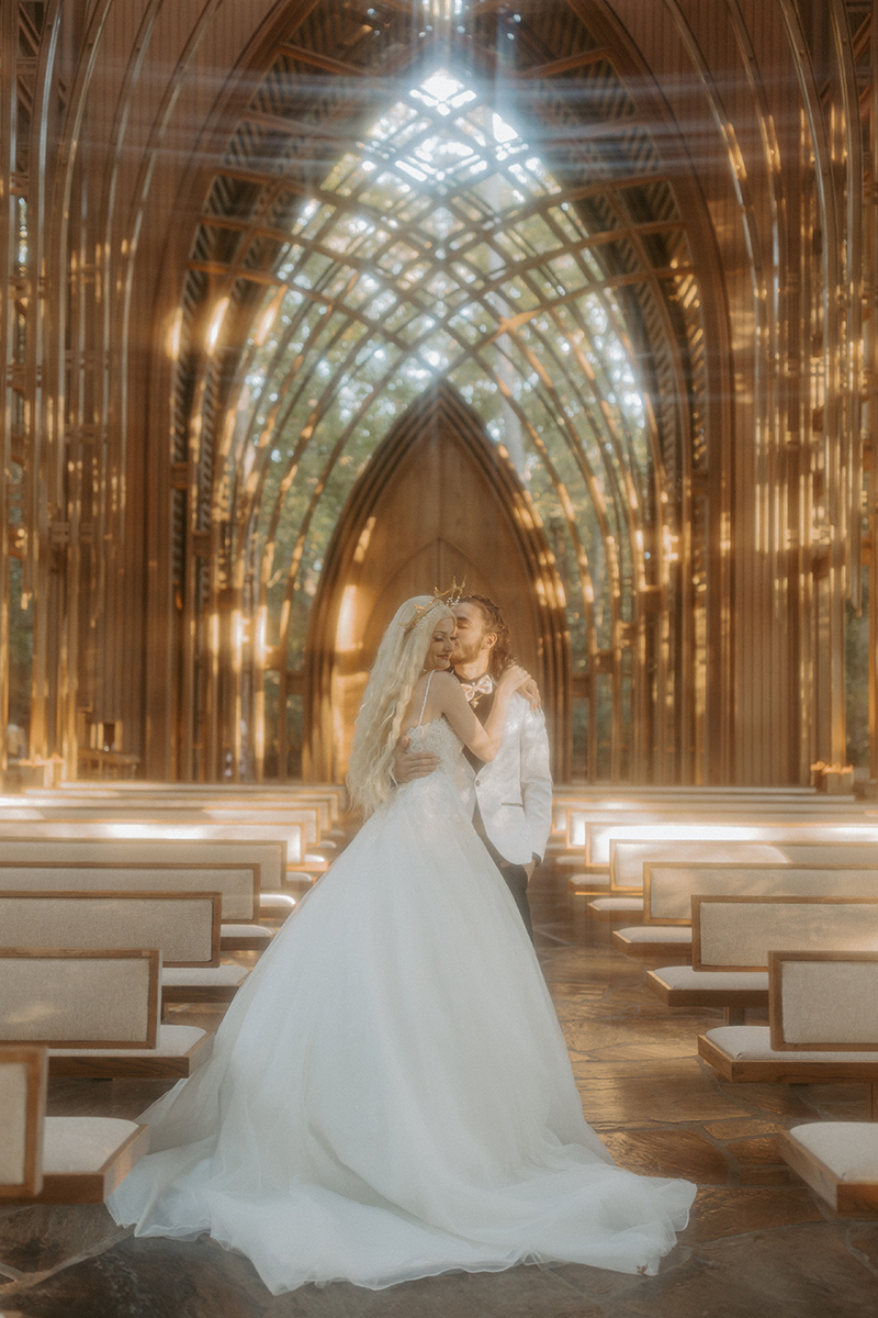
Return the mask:
{"type": "Polygon", "coordinates": [[[415,684],[424,668],[433,627],[454,614],[444,600],[417,594],[400,604],[382,637],[369,675],[348,762],[351,805],[373,815],[394,787],[394,757],[415,684]]]}

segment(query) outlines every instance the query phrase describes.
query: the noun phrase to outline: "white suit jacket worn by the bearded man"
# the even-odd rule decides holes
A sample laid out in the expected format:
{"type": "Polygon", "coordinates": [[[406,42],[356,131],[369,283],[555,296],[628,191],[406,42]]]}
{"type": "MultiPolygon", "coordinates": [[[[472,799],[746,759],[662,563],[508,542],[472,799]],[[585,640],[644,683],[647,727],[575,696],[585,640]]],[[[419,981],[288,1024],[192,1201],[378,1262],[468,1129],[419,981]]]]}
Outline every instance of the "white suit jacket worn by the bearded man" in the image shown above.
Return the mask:
{"type": "Polygon", "coordinates": [[[478,799],[484,832],[504,859],[529,865],[542,855],[552,828],[546,721],[517,691],[494,759],[475,772],[461,755],[461,793],[470,812],[478,799]]]}

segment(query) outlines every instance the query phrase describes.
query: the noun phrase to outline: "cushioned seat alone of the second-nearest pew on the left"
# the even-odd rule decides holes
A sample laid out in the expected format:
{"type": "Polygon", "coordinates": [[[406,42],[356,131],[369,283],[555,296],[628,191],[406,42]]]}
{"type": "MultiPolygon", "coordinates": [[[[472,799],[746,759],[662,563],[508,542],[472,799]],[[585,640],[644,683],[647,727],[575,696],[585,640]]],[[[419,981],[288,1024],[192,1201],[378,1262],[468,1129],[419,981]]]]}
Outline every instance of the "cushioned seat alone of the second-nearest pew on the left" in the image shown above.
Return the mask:
{"type": "Polygon", "coordinates": [[[186,1079],[212,1050],[205,1029],[161,1024],[155,1048],[49,1048],[49,1078],[186,1079]]]}

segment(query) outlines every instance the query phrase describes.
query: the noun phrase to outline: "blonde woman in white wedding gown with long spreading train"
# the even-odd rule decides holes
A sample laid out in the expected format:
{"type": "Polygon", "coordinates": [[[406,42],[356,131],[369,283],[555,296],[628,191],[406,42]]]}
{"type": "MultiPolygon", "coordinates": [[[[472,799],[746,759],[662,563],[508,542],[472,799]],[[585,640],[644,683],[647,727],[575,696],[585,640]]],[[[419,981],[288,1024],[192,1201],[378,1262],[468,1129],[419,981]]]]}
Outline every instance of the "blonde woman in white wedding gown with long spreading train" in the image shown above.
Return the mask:
{"type": "Polygon", "coordinates": [[[463,745],[495,755],[527,673],[503,675],[483,728],[442,671],[453,631],[440,596],[396,612],[350,757],[370,817],[247,978],[211,1061],[145,1114],[150,1153],[109,1199],[137,1235],[208,1231],[274,1293],[517,1263],[653,1273],[695,1195],[616,1166],[583,1119],[533,948],[455,786],[463,745]],[[441,764],[396,788],[404,733],[441,764]]]}

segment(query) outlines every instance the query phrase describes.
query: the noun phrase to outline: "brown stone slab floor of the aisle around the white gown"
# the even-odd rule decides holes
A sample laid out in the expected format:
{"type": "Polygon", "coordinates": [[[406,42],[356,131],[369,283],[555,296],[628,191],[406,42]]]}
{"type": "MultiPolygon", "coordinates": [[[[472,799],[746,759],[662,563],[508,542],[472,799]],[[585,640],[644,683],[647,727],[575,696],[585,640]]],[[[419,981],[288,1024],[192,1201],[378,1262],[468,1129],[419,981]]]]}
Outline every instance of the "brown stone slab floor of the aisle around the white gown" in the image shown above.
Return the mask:
{"type": "MultiPolygon", "coordinates": [[[[534,876],[538,952],[587,1119],[616,1160],[699,1194],[657,1277],[584,1267],[448,1275],[388,1290],[270,1296],[203,1239],[134,1240],[101,1206],[0,1209],[0,1318],[864,1318],[878,1313],[878,1220],[841,1220],[788,1172],[802,1119],[862,1120],[861,1086],[725,1085],[696,1057],[717,1015],[669,1011],[613,952],[562,870],[534,876]]],[[[215,1028],[220,1016],[180,1008],[215,1028]]],[[[50,1111],[137,1116],[158,1082],[55,1081],[50,1111]]]]}

